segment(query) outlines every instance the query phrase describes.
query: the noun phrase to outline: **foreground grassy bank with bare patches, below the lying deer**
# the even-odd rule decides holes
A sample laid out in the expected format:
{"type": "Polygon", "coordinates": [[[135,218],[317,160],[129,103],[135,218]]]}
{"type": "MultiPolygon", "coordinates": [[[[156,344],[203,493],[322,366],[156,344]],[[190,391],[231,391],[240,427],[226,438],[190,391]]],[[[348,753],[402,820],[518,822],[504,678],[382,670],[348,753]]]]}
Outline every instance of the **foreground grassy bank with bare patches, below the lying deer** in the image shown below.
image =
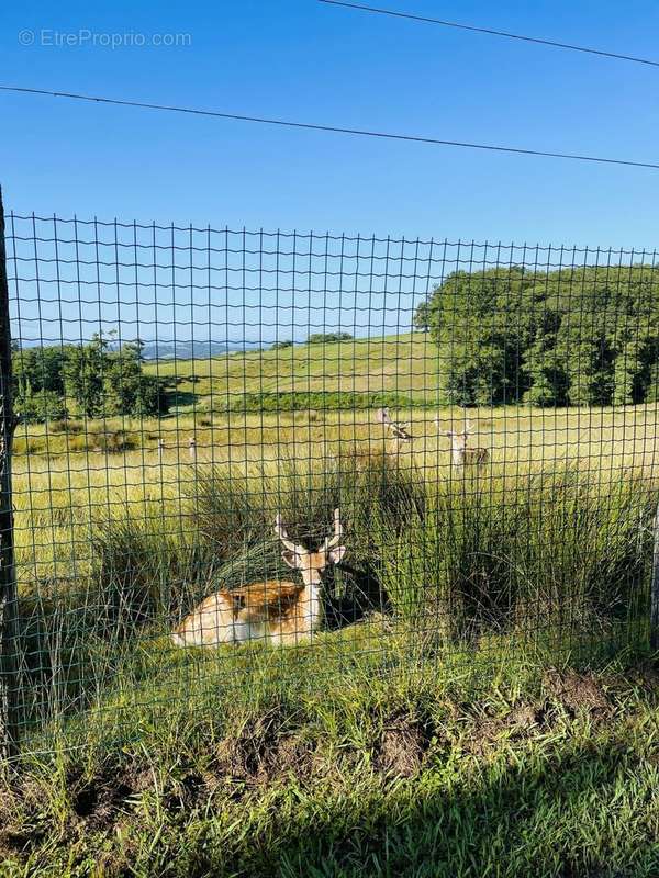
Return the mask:
{"type": "Polygon", "coordinates": [[[518,643],[369,654],[362,634],[154,643],[86,750],[4,789],[2,878],[657,875],[654,672],[546,672],[518,643]]]}

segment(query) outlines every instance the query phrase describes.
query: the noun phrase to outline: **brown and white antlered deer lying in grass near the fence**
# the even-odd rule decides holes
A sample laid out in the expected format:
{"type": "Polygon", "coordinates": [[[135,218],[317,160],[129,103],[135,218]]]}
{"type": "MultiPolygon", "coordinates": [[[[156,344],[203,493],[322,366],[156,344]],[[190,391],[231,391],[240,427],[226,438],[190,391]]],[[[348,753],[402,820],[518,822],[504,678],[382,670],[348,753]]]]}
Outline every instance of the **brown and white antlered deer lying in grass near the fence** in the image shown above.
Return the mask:
{"type": "Polygon", "coordinates": [[[221,589],[206,597],[175,629],[177,646],[212,646],[266,639],[276,645],[297,643],[315,631],[322,620],[322,573],[339,564],[346,547],[338,509],[334,510],[334,536],[315,552],[293,542],[277,515],[275,533],[283,544],[281,556],[300,571],[302,583],[268,579],[221,589]]]}

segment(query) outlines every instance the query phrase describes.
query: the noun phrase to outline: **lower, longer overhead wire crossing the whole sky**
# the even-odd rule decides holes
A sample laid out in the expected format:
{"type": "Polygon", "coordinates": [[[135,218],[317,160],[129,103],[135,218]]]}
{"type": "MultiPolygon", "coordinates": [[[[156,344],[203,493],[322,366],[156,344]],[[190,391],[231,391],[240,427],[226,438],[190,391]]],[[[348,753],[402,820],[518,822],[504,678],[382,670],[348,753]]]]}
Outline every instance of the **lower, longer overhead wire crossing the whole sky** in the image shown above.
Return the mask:
{"type": "Polygon", "coordinates": [[[523,149],[516,146],[500,146],[496,144],[477,144],[469,140],[449,140],[439,137],[426,137],[416,134],[394,134],[392,132],[370,131],[367,128],[350,128],[344,125],[321,125],[312,122],[294,122],[287,119],[268,119],[266,116],[252,116],[239,113],[225,113],[219,110],[201,110],[192,106],[177,106],[174,104],[148,103],[120,98],[107,98],[96,94],[77,94],[70,91],[49,91],[47,89],[31,89],[23,86],[0,85],[0,91],[16,92],[20,94],[44,94],[49,98],[69,98],[74,101],[89,101],[91,103],[112,104],[114,106],[134,106],[143,110],[161,110],[169,113],[188,113],[197,116],[211,116],[212,119],[227,119],[237,122],[256,122],[261,125],[278,125],[286,128],[304,128],[306,131],[332,132],[334,134],[350,134],[358,137],[378,137],[386,140],[404,140],[409,143],[429,144],[432,146],[456,146],[465,149],[484,149],[493,153],[512,153],[522,156],[543,156],[545,158],[565,158],[573,161],[591,161],[602,165],[625,165],[632,168],[651,168],[659,170],[659,164],[652,161],[633,161],[622,158],[606,158],[604,156],[585,156],[578,153],[558,153],[548,149],[523,149]]]}

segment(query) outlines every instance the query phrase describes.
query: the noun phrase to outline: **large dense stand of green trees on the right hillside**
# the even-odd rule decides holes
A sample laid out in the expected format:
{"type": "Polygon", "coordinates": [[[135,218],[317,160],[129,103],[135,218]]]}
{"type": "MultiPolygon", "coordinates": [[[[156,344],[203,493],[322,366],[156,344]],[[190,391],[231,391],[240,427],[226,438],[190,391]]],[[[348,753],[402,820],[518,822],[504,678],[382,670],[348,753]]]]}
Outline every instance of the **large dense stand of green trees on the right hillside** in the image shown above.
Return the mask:
{"type": "Polygon", "coordinates": [[[414,318],[446,404],[659,399],[659,267],[456,271],[414,318]]]}

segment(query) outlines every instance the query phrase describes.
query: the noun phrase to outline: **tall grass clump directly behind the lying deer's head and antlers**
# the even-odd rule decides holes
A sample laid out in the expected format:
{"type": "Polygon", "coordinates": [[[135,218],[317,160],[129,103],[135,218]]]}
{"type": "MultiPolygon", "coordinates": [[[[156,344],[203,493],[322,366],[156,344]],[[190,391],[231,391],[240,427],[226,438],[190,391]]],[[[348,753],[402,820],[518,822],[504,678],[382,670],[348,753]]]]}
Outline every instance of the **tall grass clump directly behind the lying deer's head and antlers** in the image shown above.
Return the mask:
{"type": "Polygon", "coordinates": [[[214,587],[291,578],[273,531],[276,515],[292,539],[314,548],[332,532],[339,508],[348,555],[340,569],[326,572],[326,594],[364,609],[386,603],[377,582],[375,522],[398,532],[423,507],[424,489],[415,471],[389,455],[351,452],[322,465],[288,459],[250,477],[213,469],[198,480],[187,504],[191,527],[213,559],[214,587]]]}

